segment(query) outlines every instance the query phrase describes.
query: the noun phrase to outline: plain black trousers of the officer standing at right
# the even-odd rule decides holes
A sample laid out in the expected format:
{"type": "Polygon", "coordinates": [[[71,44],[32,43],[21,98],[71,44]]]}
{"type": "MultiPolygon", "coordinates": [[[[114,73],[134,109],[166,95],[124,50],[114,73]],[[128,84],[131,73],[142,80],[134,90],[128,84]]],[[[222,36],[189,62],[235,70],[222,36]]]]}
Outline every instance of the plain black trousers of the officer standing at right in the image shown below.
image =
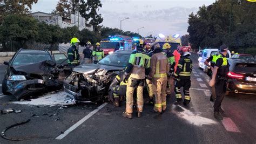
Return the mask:
{"type": "Polygon", "coordinates": [[[217,78],[214,87],[215,87],[216,99],[214,101],[213,107],[214,107],[214,112],[219,112],[221,102],[223,101],[227,91],[226,80],[220,80],[217,78]]]}

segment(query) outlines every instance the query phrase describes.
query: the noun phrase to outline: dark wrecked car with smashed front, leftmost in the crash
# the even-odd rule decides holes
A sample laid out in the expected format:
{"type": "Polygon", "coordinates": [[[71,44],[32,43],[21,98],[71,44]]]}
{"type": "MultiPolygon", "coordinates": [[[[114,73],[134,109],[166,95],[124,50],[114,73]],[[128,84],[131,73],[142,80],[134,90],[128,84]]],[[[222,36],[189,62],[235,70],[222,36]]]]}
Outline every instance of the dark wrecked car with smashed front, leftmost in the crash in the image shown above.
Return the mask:
{"type": "Polygon", "coordinates": [[[21,49],[10,61],[4,61],[8,67],[2,82],[2,92],[12,94],[19,100],[31,93],[59,90],[65,76],[71,73],[65,63],[65,54],[58,53],[58,56],[52,57],[48,51],[21,49]],[[58,64],[55,58],[58,58],[58,64]]]}

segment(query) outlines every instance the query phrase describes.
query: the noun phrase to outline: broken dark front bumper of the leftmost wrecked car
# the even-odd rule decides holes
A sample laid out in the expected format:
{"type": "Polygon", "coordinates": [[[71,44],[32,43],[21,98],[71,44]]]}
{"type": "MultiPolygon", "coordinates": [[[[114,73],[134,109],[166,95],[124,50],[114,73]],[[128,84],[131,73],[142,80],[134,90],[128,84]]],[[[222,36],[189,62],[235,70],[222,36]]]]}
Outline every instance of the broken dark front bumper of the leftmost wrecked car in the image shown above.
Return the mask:
{"type": "Polygon", "coordinates": [[[42,79],[25,80],[16,84],[13,88],[8,90],[8,92],[14,95],[17,99],[21,99],[24,95],[30,94],[31,92],[43,90],[43,84],[44,80],[42,79]]]}

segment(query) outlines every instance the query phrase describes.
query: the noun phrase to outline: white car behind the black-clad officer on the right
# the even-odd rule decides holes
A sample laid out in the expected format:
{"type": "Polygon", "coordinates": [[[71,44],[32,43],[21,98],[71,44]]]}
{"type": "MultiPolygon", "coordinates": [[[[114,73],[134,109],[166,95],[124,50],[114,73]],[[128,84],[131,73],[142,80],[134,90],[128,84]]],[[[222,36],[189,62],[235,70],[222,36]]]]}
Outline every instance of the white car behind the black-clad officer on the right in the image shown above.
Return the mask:
{"type": "MultiPolygon", "coordinates": [[[[227,58],[231,58],[230,51],[228,50],[227,52],[228,52],[227,58]]],[[[219,53],[218,49],[204,49],[201,57],[198,58],[198,67],[202,68],[204,72],[207,72],[208,67],[204,64],[205,60],[217,53],[219,53]]]]}

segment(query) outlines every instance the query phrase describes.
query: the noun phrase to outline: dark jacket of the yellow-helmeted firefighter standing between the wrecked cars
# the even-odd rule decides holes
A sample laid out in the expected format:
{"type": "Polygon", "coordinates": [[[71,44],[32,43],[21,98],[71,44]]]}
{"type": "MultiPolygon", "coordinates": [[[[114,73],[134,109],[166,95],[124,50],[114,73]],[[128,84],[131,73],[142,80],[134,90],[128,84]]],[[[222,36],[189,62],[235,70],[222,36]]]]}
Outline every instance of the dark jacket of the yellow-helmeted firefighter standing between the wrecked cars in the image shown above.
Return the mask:
{"type": "Polygon", "coordinates": [[[80,59],[78,50],[76,49],[76,46],[71,46],[68,49],[68,64],[78,64],[78,61],[80,59]]]}

